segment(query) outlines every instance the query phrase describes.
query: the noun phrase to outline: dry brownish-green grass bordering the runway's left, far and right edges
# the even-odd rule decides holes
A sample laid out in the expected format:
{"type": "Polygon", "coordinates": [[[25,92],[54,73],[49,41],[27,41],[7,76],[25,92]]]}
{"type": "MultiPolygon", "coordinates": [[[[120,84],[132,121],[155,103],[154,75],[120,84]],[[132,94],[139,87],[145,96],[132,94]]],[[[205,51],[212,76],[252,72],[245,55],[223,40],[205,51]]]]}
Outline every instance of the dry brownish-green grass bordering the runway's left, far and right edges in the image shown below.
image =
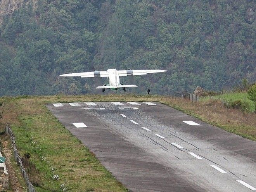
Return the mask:
{"type": "Polygon", "coordinates": [[[10,123],[16,135],[20,153],[31,153],[28,172],[38,192],[63,191],[65,184],[69,191],[126,191],[125,187],[112,177],[94,155],[83,146],[48,111],[45,103],[86,101],[149,101],[161,102],[179,109],[203,121],[256,141],[256,114],[227,109],[220,100],[189,100],[162,96],[137,95],[83,95],[3,97],[1,128],[10,123]],[[59,180],[52,177],[59,175],[59,180]]]}

